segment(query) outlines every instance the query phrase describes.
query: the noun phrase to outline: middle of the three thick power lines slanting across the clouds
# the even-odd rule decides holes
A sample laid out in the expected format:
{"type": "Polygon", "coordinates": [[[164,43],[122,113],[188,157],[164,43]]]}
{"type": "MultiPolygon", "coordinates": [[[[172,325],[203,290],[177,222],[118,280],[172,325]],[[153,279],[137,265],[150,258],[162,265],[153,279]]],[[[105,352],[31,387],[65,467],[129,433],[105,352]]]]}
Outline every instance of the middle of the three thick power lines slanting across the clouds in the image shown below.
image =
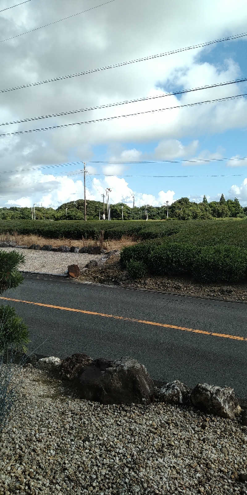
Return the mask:
{"type": "Polygon", "coordinates": [[[39,117],[28,117],[28,118],[20,119],[20,120],[12,120],[10,122],[2,122],[2,123],[0,123],[0,126],[10,125],[10,124],[21,124],[23,122],[31,122],[33,120],[41,120],[41,119],[46,119],[46,118],[50,118],[50,117],[60,117],[61,115],[71,115],[73,113],[87,112],[89,110],[99,110],[100,108],[108,108],[108,107],[112,107],[112,106],[125,105],[127,103],[135,103],[135,102],[138,102],[138,101],[146,101],[146,100],[150,100],[150,99],[165,98],[167,96],[182,95],[184,93],[191,93],[191,92],[194,92],[194,91],[200,91],[200,90],[205,90],[205,89],[217,88],[219,86],[227,86],[229,84],[242,83],[242,82],[246,82],[246,81],[247,81],[247,77],[245,77],[243,79],[235,79],[234,81],[227,81],[225,83],[212,84],[210,86],[206,85],[206,86],[201,86],[199,88],[192,88],[192,89],[188,89],[188,90],[175,91],[174,93],[167,93],[165,95],[157,95],[157,96],[136,98],[136,99],[118,101],[116,103],[107,103],[107,104],[104,104],[104,105],[89,106],[87,108],[79,108],[78,110],[68,110],[68,111],[65,111],[65,112],[50,113],[50,114],[47,114],[47,115],[40,115],[39,117]]]}

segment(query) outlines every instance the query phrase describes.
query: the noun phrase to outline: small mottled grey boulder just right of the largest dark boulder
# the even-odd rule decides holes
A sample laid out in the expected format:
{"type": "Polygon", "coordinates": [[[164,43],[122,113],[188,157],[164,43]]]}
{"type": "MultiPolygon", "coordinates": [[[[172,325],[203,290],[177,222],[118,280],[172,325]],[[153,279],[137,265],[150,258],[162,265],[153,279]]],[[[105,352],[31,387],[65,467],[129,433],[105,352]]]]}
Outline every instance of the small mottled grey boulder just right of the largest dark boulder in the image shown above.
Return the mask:
{"type": "Polygon", "coordinates": [[[160,389],[156,389],[157,399],[159,402],[168,404],[190,404],[190,388],[179,380],[166,383],[160,389]]]}

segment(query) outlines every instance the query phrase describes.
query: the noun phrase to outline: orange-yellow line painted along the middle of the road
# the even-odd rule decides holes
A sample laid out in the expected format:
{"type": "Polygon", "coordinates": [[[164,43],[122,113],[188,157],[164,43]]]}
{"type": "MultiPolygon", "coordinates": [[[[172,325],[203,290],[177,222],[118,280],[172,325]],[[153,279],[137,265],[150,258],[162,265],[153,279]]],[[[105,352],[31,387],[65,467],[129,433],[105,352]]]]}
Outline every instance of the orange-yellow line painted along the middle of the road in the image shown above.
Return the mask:
{"type": "Polygon", "coordinates": [[[84,309],[66,308],[64,306],[54,306],[53,304],[43,304],[42,302],[23,301],[22,299],[13,299],[11,297],[0,297],[0,299],[3,299],[5,301],[24,302],[25,304],[34,304],[35,306],[44,306],[46,308],[62,309],[63,311],[74,311],[76,313],[92,314],[95,316],[114,318],[115,320],[131,321],[134,323],[144,323],[145,325],[153,325],[153,326],[164,327],[164,328],[174,328],[175,330],[184,330],[186,332],[193,332],[196,334],[203,334],[203,335],[213,335],[214,337],[224,337],[225,339],[247,341],[247,337],[239,337],[237,335],[228,335],[228,334],[218,334],[216,332],[206,332],[205,330],[197,330],[194,328],[187,328],[187,327],[178,327],[176,325],[168,325],[167,323],[157,323],[155,321],[137,320],[136,318],[127,318],[125,316],[115,316],[113,314],[98,313],[96,311],[85,311],[84,309]]]}

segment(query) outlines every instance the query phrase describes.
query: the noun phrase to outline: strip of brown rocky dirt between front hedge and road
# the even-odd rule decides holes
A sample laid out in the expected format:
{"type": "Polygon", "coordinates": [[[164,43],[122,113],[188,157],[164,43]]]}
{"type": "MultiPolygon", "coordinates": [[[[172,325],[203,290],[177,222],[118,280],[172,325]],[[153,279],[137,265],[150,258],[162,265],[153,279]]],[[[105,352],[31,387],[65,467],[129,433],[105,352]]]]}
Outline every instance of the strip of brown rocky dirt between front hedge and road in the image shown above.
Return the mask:
{"type": "Polygon", "coordinates": [[[228,301],[247,301],[247,283],[242,284],[200,284],[188,278],[146,277],[133,281],[126,270],[121,269],[120,256],[112,256],[103,266],[84,272],[79,280],[104,285],[116,285],[128,289],[146,289],[170,294],[194,297],[215,297],[228,301]]]}

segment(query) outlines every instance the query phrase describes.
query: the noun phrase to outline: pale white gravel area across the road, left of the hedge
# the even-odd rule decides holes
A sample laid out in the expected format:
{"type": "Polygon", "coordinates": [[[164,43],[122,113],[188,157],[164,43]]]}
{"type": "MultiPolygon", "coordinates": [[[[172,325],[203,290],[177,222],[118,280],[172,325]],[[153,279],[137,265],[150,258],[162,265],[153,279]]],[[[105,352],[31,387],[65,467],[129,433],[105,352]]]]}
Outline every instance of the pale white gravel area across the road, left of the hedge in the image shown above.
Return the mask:
{"type": "Polygon", "coordinates": [[[19,270],[22,272],[51,273],[53,275],[64,275],[68,271],[68,266],[72,264],[78,265],[81,270],[91,259],[99,261],[102,257],[101,254],[39,251],[21,247],[0,247],[0,250],[17,251],[25,255],[25,263],[19,265],[19,270]]]}

